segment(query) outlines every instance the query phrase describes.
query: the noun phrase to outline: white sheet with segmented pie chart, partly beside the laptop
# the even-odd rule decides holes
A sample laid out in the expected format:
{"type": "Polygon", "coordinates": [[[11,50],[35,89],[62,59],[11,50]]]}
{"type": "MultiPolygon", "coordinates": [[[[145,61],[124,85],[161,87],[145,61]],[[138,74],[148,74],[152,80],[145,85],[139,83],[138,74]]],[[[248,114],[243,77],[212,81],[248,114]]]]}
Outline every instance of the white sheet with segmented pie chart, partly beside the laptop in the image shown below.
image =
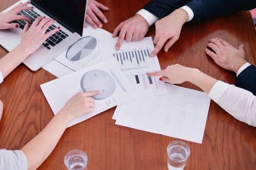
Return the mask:
{"type": "Polygon", "coordinates": [[[103,29],[93,29],[88,24],[83,31],[83,37],[85,37],[85,39],[78,41],[78,43],[74,43],[71,48],[64,50],[60,55],[43,66],[43,69],[56,77],[62,77],[68,73],[102,62],[103,60],[99,55],[99,41],[110,40],[112,39],[111,35],[112,34],[103,29]],[[80,51],[81,53],[79,53],[80,51]],[[72,57],[76,54],[81,57],[72,57]],[[71,61],[72,58],[74,58],[73,61],[71,61]]]}

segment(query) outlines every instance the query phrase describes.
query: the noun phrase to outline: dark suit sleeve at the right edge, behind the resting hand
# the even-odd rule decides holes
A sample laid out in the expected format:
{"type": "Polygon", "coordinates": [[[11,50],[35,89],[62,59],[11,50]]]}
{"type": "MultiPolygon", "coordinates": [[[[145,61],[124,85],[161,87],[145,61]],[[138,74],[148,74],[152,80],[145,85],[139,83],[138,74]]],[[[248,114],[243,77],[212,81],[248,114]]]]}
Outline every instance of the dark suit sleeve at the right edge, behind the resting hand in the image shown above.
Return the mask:
{"type": "Polygon", "coordinates": [[[235,80],[235,86],[251,91],[256,96],[256,67],[245,68],[235,80]]]}

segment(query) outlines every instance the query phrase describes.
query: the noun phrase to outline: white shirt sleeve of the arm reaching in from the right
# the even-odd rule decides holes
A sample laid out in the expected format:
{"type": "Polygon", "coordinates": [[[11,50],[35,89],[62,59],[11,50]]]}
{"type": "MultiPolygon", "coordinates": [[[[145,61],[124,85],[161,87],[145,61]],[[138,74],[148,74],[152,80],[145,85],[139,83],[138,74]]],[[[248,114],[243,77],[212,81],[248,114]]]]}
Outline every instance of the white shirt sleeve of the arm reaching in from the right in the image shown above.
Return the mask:
{"type": "Polygon", "coordinates": [[[256,127],[256,96],[250,91],[217,81],[208,96],[235,119],[256,127]]]}

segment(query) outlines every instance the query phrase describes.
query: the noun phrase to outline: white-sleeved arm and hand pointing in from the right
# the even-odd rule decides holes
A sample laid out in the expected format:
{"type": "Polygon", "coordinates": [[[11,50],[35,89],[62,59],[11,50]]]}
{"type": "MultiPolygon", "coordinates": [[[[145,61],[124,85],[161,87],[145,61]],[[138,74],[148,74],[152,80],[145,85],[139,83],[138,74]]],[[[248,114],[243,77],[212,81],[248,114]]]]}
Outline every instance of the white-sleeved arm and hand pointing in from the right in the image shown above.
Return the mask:
{"type": "Polygon", "coordinates": [[[191,82],[204,90],[235,119],[256,127],[256,96],[247,90],[217,81],[196,68],[187,68],[178,64],[149,75],[162,76],[160,78],[162,81],[171,84],[191,82]]]}

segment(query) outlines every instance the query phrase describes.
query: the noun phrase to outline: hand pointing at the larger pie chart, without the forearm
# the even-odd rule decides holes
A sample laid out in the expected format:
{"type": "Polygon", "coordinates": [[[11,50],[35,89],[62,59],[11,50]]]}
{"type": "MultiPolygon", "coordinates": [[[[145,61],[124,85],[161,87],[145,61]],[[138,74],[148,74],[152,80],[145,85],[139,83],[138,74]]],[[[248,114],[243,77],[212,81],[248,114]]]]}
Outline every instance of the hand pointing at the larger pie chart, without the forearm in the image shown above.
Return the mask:
{"type": "Polygon", "coordinates": [[[100,94],[101,91],[79,92],[66,102],[61,110],[70,120],[84,115],[94,110],[94,99],[91,96],[100,94]]]}

